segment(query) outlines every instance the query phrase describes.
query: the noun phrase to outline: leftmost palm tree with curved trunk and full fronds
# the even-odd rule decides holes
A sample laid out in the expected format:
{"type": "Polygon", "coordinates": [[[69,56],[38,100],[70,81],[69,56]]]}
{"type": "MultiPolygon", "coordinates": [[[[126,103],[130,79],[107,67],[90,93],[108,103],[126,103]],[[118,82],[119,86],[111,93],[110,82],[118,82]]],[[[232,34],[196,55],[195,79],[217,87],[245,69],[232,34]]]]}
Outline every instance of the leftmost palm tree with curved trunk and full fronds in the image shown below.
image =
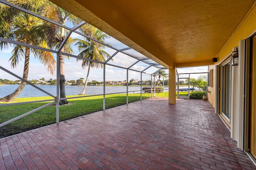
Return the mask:
{"type": "MultiPolygon", "coordinates": [[[[46,5],[45,0],[19,0],[11,2],[35,13],[39,13],[46,5]]],[[[37,29],[38,26],[44,25],[42,20],[2,4],[0,5],[0,14],[1,37],[41,47],[48,47],[45,32],[37,29]]],[[[0,49],[6,47],[10,47],[10,44],[0,42],[0,49]]],[[[12,56],[9,61],[11,61],[11,67],[15,68],[20,60],[24,59],[23,79],[28,79],[30,52],[34,53],[35,57],[45,65],[51,74],[53,74],[55,69],[55,60],[52,53],[14,44],[12,56]]],[[[13,101],[21,93],[25,85],[26,82],[22,81],[13,93],[1,98],[0,101],[13,101]]]]}

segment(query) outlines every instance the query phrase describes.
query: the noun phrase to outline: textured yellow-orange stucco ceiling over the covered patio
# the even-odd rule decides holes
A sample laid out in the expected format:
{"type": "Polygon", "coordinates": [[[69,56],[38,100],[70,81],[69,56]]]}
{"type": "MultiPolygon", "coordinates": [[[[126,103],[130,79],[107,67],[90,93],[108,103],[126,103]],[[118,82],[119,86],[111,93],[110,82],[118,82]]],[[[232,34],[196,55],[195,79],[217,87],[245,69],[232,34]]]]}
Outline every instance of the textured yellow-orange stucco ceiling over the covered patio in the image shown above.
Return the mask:
{"type": "Polygon", "coordinates": [[[211,63],[255,0],[51,1],[172,68],[211,63]]]}

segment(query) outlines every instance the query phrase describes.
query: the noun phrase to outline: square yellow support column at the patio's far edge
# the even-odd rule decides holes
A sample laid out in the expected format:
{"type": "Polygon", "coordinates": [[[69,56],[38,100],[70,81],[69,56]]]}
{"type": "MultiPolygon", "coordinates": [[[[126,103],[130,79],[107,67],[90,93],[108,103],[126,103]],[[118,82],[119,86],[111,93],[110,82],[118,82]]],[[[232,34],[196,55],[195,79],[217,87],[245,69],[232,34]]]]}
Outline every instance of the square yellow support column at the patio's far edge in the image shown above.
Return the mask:
{"type": "Polygon", "coordinates": [[[169,104],[176,104],[176,67],[169,69],[169,104]]]}

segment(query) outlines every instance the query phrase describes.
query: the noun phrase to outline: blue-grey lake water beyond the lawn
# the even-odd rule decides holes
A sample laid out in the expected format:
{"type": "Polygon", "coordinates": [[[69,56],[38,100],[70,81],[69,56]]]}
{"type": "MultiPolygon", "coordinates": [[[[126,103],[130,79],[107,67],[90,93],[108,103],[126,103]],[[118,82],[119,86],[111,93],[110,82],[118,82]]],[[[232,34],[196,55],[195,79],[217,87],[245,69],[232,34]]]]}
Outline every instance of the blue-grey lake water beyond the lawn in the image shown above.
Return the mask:
{"type": "MultiPolygon", "coordinates": [[[[0,85],[0,98],[14,92],[18,86],[19,85],[0,85]]],[[[36,86],[56,96],[56,85],[36,85],[36,86]]],[[[66,88],[67,96],[79,95],[84,89],[84,86],[66,85],[65,88],[66,88]]],[[[168,90],[168,87],[165,87],[164,89],[168,90]]],[[[126,86],[106,86],[105,90],[106,90],[106,94],[120,93],[120,92],[126,93],[126,86]]],[[[128,91],[138,91],[138,90],[140,90],[140,86],[128,86],[128,91]]],[[[140,92],[138,91],[134,93],[140,93],[140,92]]],[[[86,95],[103,94],[103,86],[87,86],[85,94],[86,95]]],[[[20,93],[20,95],[18,95],[18,97],[40,97],[40,96],[48,96],[48,95],[32,87],[31,85],[25,85],[23,91],[20,93]]]]}

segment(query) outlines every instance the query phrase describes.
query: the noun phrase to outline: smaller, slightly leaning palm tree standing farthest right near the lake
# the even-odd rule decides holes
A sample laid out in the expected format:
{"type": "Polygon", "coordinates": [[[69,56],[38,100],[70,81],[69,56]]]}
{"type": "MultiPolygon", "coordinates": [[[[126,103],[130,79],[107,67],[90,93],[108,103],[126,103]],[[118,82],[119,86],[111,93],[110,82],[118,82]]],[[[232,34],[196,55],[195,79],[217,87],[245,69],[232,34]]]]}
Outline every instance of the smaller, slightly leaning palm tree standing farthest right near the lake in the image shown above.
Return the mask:
{"type": "MultiPolygon", "coordinates": [[[[86,24],[85,26],[82,27],[81,31],[84,34],[89,35],[90,37],[104,43],[104,40],[106,38],[109,38],[109,36],[107,34],[105,34],[104,32],[98,30],[97,28],[91,26],[90,24],[86,24]]],[[[92,60],[96,60],[96,61],[101,61],[104,62],[106,61],[107,58],[110,57],[110,55],[103,50],[103,48],[105,47],[104,45],[102,45],[101,43],[95,42],[89,38],[84,37],[83,40],[81,39],[75,39],[74,40],[76,42],[75,45],[78,45],[78,50],[79,50],[79,54],[78,56],[84,57],[84,58],[88,58],[88,59],[92,59],[92,60]]],[[[81,59],[77,59],[77,61],[79,61],[81,59]]],[[[87,71],[87,76],[86,76],[86,81],[84,84],[84,89],[83,91],[80,93],[80,95],[84,95],[85,94],[85,90],[87,87],[87,82],[88,82],[88,77],[89,77],[89,73],[90,73],[90,68],[91,67],[95,67],[95,68],[102,68],[102,64],[101,63],[97,63],[97,62],[93,62],[93,61],[88,61],[88,60],[82,60],[82,69],[85,69],[86,67],[88,67],[88,71],[87,71]]]]}

